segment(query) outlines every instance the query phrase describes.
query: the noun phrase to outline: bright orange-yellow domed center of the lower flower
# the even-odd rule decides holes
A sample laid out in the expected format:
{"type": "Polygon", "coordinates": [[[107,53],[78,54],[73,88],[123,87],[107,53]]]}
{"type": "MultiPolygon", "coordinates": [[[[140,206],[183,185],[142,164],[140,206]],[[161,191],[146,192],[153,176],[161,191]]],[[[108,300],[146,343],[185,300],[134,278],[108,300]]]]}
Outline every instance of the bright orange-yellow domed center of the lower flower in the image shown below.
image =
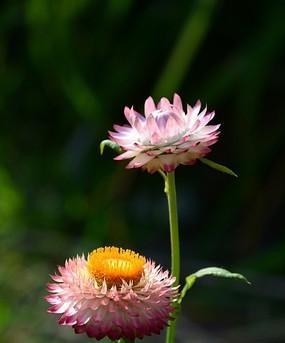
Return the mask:
{"type": "Polygon", "coordinates": [[[120,285],[122,280],[138,282],[145,263],[145,257],[132,250],[104,247],[89,254],[87,268],[96,281],[102,282],[105,279],[110,286],[120,285]]]}

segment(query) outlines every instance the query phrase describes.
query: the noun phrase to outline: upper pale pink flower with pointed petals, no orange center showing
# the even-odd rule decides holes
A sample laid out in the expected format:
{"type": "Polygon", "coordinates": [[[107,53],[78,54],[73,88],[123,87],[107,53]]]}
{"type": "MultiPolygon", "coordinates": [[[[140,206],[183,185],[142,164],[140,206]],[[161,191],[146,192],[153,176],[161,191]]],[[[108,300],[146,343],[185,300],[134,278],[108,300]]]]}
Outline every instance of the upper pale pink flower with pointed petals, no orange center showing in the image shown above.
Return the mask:
{"type": "Polygon", "coordinates": [[[173,103],[161,98],[156,106],[151,97],[144,105],[145,115],[133,107],[125,107],[124,113],[130,125],[114,125],[116,132],[109,132],[110,139],[124,153],[116,160],[133,158],[127,169],[146,169],[154,173],[161,169],[173,171],[179,164],[191,165],[211,150],[210,145],[218,140],[220,125],[207,125],[215,112],[201,113],[198,100],[192,108],[187,105],[185,113],[179,95],[174,94],[173,103]]]}

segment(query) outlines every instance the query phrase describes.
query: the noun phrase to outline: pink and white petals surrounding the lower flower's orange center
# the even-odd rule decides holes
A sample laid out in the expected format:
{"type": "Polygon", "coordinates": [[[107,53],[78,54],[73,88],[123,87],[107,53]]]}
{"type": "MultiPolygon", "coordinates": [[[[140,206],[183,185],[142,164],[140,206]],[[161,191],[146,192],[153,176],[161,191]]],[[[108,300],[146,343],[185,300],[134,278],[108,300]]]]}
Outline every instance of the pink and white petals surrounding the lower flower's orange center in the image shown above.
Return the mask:
{"type": "Polygon", "coordinates": [[[159,334],[172,319],[178,288],[173,286],[175,279],[154,262],[146,261],[139,281],[122,280],[121,287],[108,286],[105,281],[98,285],[84,257],[68,259],[59,269],[66,293],[51,295],[61,302],[49,311],[62,313],[59,324],[72,326],[75,333],[97,340],[134,340],[159,334]]]}

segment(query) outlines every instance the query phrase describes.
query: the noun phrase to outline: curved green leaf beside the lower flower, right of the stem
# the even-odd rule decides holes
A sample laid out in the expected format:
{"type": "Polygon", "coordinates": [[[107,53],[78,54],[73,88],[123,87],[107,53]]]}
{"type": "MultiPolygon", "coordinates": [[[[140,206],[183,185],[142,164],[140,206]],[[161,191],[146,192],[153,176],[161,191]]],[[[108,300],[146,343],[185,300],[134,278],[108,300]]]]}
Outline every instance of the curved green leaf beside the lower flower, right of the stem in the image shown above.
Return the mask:
{"type": "Polygon", "coordinates": [[[178,301],[177,301],[178,304],[181,304],[186,293],[194,285],[196,280],[201,278],[201,277],[204,277],[204,276],[223,277],[223,278],[227,278],[227,279],[239,279],[239,280],[242,280],[242,281],[244,281],[250,285],[250,282],[247,280],[247,278],[245,278],[241,274],[232,273],[226,269],[218,268],[218,267],[203,268],[203,269],[198,270],[196,273],[191,274],[191,275],[186,277],[186,279],[185,279],[186,283],[185,283],[185,285],[184,285],[184,287],[180,293],[180,296],[178,298],[178,301]]]}

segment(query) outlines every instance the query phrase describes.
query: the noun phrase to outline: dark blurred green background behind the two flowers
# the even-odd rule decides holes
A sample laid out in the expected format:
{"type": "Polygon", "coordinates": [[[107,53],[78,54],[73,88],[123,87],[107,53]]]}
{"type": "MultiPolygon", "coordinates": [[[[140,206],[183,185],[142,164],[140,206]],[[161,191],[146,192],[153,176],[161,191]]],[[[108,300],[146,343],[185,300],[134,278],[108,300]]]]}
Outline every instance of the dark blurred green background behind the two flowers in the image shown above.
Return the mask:
{"type": "Polygon", "coordinates": [[[253,282],[201,280],[177,342],[285,342],[284,17],[284,1],[1,2],[1,342],[88,341],[46,313],[66,257],[111,244],[169,267],[161,177],[99,143],[125,105],[175,91],[216,110],[209,158],[239,174],[177,169],[182,275],[217,265],[253,282]]]}

